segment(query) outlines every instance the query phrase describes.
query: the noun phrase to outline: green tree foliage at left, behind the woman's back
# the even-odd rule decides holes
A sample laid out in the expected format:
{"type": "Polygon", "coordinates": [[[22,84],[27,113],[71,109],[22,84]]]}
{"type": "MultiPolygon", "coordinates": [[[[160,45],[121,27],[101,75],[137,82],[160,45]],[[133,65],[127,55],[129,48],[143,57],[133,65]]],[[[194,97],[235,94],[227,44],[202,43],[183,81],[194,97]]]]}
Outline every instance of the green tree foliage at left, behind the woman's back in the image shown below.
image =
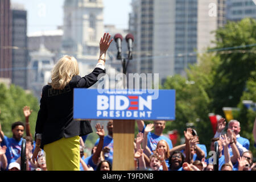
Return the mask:
{"type": "MultiPolygon", "coordinates": [[[[25,123],[23,107],[30,106],[32,113],[30,115],[30,131],[32,136],[35,133],[36,117],[39,110],[38,99],[31,93],[26,93],[19,86],[11,85],[7,88],[0,84],[0,123],[2,130],[7,137],[12,137],[11,125],[16,121],[25,123]]],[[[24,132],[24,135],[26,133],[24,132]]]]}

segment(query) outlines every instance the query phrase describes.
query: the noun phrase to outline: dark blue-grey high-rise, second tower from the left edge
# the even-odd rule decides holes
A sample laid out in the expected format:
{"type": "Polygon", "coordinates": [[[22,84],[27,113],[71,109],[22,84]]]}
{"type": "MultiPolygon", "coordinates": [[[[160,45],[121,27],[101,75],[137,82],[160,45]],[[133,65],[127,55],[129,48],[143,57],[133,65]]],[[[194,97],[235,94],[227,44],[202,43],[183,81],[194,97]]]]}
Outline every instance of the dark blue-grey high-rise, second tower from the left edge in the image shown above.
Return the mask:
{"type": "Polygon", "coordinates": [[[11,4],[12,12],[12,78],[11,82],[15,85],[27,89],[27,11],[19,4],[11,4]]]}

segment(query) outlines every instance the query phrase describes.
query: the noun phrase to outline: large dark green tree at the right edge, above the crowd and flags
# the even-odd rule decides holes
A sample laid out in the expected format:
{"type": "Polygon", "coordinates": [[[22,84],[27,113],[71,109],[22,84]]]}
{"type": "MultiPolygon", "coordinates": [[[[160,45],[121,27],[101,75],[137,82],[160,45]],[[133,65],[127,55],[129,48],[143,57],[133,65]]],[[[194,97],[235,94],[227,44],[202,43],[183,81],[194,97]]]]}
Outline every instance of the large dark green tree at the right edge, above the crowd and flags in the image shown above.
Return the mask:
{"type": "Polygon", "coordinates": [[[209,90],[212,108],[223,114],[222,107],[236,107],[245,89],[246,81],[256,67],[256,21],[245,18],[229,22],[216,31],[217,56],[221,63],[209,90]]]}

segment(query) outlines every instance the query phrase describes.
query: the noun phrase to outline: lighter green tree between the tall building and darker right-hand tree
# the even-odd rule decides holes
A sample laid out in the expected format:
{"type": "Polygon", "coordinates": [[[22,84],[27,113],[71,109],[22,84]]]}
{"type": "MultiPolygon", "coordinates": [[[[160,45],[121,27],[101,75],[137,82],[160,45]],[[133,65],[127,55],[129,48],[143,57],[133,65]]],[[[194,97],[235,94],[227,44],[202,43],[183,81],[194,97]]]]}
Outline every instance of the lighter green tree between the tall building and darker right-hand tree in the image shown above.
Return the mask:
{"type": "Polygon", "coordinates": [[[176,118],[173,122],[167,122],[166,129],[177,129],[180,137],[183,137],[187,123],[192,123],[199,134],[200,142],[209,146],[210,138],[214,134],[208,117],[212,112],[212,99],[208,90],[213,85],[214,70],[220,59],[213,53],[204,53],[199,59],[199,64],[191,65],[187,70],[187,78],[180,75],[168,77],[163,85],[163,89],[176,90],[176,118]]]}

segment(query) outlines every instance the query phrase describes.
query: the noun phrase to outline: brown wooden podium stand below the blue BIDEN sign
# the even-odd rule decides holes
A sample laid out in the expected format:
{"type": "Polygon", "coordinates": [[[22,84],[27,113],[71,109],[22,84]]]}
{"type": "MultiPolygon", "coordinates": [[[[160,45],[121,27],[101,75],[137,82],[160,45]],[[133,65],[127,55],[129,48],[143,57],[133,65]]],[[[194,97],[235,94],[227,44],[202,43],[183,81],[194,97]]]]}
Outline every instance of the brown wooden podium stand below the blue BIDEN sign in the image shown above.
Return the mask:
{"type": "Polygon", "coordinates": [[[134,166],[135,120],[113,120],[113,171],[131,171],[134,166]]]}

